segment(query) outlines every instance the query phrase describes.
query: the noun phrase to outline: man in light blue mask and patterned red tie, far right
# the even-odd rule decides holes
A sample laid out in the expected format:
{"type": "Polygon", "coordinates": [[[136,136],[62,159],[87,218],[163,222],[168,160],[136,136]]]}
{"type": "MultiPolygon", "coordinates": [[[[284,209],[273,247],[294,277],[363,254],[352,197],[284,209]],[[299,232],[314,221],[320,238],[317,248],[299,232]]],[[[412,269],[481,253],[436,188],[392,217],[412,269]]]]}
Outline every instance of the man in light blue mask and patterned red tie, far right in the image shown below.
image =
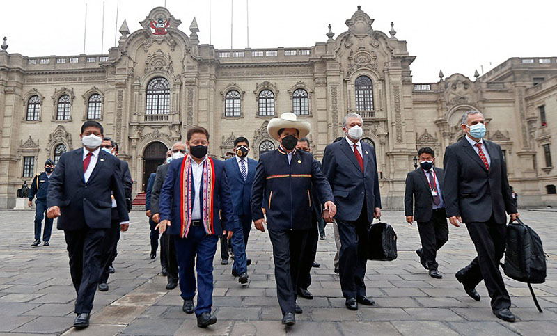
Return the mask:
{"type": "Polygon", "coordinates": [[[510,296],[499,262],[505,251],[506,216],[519,214],[512,201],[507,168],[501,147],[487,141],[485,118],[478,111],[462,115],[466,136],[445,150],[445,202],[451,224],[466,223],[478,256],[458,271],[457,280],[471,298],[480,301],[476,285],[484,280],[491,297],[492,312],[503,321],[515,321],[510,312],[510,296]]]}

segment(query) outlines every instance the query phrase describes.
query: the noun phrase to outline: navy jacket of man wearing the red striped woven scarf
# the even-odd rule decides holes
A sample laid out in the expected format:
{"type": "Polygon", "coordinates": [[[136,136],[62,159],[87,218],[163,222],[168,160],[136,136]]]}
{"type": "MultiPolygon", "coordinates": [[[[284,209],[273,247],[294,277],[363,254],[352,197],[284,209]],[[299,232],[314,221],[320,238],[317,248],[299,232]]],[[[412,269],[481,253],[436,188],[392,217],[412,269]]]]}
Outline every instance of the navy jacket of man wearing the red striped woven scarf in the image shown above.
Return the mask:
{"type": "MultiPolygon", "coordinates": [[[[169,234],[180,234],[180,225],[182,223],[180,216],[180,169],[182,168],[182,161],[185,159],[175,159],[168,163],[168,172],[164,178],[164,184],[162,184],[159,209],[161,221],[171,221],[171,226],[168,228],[169,234]]],[[[214,216],[212,225],[214,234],[223,234],[223,230],[234,230],[235,217],[232,210],[233,205],[224,162],[217,159],[212,159],[212,161],[214,162],[214,193],[212,200],[214,216]],[[219,212],[219,210],[221,211],[219,212]]],[[[200,185],[203,187],[203,178],[200,185]]],[[[194,198],[199,197],[202,192],[202,190],[194,191],[195,195],[191,198],[192,207],[194,198]]],[[[203,211],[203,198],[201,198],[200,208],[203,211]]],[[[201,216],[203,218],[203,214],[201,216]]]]}

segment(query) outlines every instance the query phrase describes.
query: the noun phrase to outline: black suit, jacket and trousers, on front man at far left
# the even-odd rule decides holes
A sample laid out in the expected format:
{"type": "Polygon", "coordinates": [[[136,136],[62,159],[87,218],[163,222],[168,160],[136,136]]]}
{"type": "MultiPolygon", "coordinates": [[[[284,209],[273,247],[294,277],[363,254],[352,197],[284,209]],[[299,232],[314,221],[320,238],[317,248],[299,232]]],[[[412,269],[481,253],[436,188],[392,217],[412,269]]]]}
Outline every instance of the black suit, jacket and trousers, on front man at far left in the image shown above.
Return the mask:
{"type": "MultiPolygon", "coordinates": [[[[75,312],[90,313],[102,262],[102,243],[111,225],[111,195],[125,204],[120,160],[100,150],[88,181],[84,180],[84,149],[65,152],[50,177],[47,208],[58,206],[57,227],[64,230],[70,273],[77,291],[75,312]]],[[[129,221],[118,207],[120,221],[129,221]]]]}

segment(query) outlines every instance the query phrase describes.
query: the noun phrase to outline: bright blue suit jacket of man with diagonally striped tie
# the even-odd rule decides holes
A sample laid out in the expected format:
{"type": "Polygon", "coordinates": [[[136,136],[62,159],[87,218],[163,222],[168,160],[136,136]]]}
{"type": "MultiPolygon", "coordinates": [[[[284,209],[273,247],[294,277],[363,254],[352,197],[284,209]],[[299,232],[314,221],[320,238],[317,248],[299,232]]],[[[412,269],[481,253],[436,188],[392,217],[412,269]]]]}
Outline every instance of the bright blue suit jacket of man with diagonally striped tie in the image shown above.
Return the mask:
{"type": "Polygon", "coordinates": [[[249,158],[246,158],[246,161],[248,168],[246,182],[242,178],[242,173],[235,157],[224,161],[224,168],[226,169],[228,184],[230,184],[234,214],[249,218],[251,221],[251,186],[253,184],[253,177],[256,176],[257,161],[249,158]]]}

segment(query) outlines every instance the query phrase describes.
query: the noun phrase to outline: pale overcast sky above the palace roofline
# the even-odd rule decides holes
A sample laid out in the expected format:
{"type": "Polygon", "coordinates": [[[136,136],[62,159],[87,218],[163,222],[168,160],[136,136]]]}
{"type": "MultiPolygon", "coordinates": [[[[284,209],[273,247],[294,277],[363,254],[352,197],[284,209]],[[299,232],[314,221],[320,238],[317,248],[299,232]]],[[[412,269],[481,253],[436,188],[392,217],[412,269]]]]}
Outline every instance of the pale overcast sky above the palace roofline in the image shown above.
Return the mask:
{"type": "MultiPolygon", "coordinates": [[[[391,22],[395,23],[396,37],[406,40],[409,54],[417,56],[411,65],[414,83],[438,81],[439,69],[446,76],[460,72],[473,78],[474,70],[487,72],[510,57],[557,56],[556,6],[549,0],[247,1],[251,48],[326,42],[327,25],[333,26],[337,37],[361,5],[375,19],[373,29],[389,35],[391,22]]],[[[136,31],[152,8],[165,3],[120,0],[116,23],[116,2],[104,1],[103,49],[102,0],[1,0],[0,37],[8,37],[8,52],[24,56],[82,54],[87,3],[86,54],[107,54],[116,26],[119,29],[127,19],[130,31],[136,31]]],[[[209,2],[167,0],[166,6],[188,34],[196,17],[201,43],[209,43],[209,2]]],[[[230,48],[231,17],[233,47],[247,46],[246,0],[212,0],[211,42],[217,49],[230,48]]]]}

